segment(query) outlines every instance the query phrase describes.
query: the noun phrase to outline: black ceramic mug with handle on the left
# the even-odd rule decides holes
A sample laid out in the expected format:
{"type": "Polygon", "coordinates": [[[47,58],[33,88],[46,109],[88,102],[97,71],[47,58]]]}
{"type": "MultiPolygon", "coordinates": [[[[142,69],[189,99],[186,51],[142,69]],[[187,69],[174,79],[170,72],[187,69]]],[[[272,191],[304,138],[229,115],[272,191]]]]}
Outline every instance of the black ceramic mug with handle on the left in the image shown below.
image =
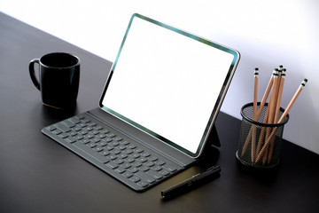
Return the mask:
{"type": "Polygon", "coordinates": [[[41,91],[43,105],[55,108],[75,106],[80,83],[80,59],[65,52],[53,52],[32,59],[29,72],[35,87],[41,91]],[[35,75],[39,64],[39,80],[35,75]]]}

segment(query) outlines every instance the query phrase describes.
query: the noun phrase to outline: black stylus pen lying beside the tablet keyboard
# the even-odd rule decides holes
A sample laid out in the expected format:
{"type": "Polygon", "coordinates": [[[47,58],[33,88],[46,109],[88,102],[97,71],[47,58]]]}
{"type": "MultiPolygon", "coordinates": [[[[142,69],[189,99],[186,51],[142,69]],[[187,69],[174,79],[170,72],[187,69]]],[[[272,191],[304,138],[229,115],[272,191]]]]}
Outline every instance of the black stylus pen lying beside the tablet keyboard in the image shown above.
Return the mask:
{"type": "Polygon", "coordinates": [[[213,175],[219,175],[219,172],[221,171],[221,168],[219,166],[214,166],[203,173],[198,173],[194,176],[192,176],[189,179],[186,179],[180,184],[174,185],[166,190],[163,190],[161,192],[161,195],[164,198],[174,197],[176,195],[179,195],[181,193],[185,193],[189,190],[191,190],[192,187],[200,184],[202,181],[206,179],[206,177],[211,177],[213,175]]]}

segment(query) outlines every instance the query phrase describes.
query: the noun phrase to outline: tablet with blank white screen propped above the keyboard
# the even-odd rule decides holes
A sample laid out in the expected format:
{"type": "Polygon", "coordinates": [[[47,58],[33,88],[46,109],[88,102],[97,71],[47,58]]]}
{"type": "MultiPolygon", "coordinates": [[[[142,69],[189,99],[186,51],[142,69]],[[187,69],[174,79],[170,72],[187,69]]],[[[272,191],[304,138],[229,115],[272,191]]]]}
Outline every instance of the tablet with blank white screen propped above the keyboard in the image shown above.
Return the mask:
{"type": "Polygon", "coordinates": [[[197,158],[239,58],[229,47],[136,13],[99,106],[197,158]]]}

